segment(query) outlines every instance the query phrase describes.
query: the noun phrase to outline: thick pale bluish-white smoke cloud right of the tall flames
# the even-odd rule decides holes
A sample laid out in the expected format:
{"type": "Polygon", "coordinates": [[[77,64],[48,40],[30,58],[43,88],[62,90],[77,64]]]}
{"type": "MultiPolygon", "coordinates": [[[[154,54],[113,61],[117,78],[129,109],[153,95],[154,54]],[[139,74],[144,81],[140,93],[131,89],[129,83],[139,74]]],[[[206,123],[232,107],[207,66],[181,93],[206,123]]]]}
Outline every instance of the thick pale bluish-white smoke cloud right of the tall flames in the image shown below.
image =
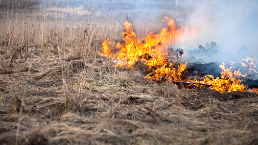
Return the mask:
{"type": "Polygon", "coordinates": [[[179,17],[190,29],[197,29],[196,36],[185,44],[214,41],[220,56],[213,57],[223,61],[258,55],[257,1],[187,1],[180,6],[179,17]]]}

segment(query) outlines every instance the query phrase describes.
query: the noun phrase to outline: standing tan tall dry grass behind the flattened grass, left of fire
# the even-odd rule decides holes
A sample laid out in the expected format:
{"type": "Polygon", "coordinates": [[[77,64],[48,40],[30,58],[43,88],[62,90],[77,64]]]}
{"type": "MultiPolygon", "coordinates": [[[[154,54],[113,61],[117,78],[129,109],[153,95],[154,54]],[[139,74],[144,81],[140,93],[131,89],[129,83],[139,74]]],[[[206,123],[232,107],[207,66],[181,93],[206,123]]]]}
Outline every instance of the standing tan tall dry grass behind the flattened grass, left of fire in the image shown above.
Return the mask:
{"type": "Polygon", "coordinates": [[[37,46],[51,53],[67,57],[78,49],[80,57],[95,57],[99,49],[91,50],[96,37],[96,25],[88,20],[66,20],[66,14],[48,12],[46,8],[11,8],[1,11],[0,44],[10,57],[15,48],[37,46]],[[95,55],[94,55],[95,54],[95,55]]]}

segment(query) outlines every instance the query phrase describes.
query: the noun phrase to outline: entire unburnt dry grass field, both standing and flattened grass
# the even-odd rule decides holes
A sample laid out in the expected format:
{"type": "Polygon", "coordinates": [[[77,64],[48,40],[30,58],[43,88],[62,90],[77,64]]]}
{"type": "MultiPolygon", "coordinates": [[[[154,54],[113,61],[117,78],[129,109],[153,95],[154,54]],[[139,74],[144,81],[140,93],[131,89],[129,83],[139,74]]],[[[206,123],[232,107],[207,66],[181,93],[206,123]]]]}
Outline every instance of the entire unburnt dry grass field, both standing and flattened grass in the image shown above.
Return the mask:
{"type": "Polygon", "coordinates": [[[257,93],[147,80],[98,53],[123,30],[29,2],[1,7],[0,144],[258,144],[257,93]]]}

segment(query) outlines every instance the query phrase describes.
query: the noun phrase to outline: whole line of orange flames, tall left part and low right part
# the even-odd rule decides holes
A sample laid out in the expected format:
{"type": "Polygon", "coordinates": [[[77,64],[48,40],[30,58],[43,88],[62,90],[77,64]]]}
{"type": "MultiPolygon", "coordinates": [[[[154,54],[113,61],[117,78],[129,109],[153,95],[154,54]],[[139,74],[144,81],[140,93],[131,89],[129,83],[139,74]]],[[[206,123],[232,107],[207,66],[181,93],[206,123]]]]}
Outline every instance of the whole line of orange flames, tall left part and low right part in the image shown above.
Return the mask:
{"type": "MultiPolygon", "coordinates": [[[[180,64],[183,51],[178,52],[177,56],[171,52],[169,45],[185,40],[191,31],[182,26],[176,29],[173,19],[164,17],[162,19],[167,24],[167,28],[161,29],[158,34],[150,32],[145,38],[139,39],[133,31],[132,24],[128,21],[124,23],[125,32],[122,33],[123,43],[115,43],[109,39],[102,43],[102,52],[100,56],[115,60],[118,66],[134,68],[135,65],[143,65],[144,75],[149,80],[155,81],[189,81],[192,84],[187,86],[204,87],[209,86],[210,89],[217,90],[221,93],[231,91],[251,91],[258,93],[257,88],[247,89],[247,85],[241,84],[240,77],[246,77],[247,74],[241,74],[240,69],[232,71],[234,67],[225,67],[225,63],[220,65],[222,69],[221,76],[214,78],[212,75],[207,75],[203,80],[191,80],[185,78],[187,62],[180,64]],[[175,37],[176,36],[176,37],[175,37]],[[175,39],[176,38],[176,39],[175,39]],[[177,59],[175,61],[175,59],[177,59]],[[238,79],[237,79],[238,78],[238,79]]],[[[249,72],[257,71],[257,60],[248,58],[243,59],[242,66],[248,68],[249,72]],[[246,64],[247,63],[247,64],[246,64]]],[[[234,63],[231,62],[231,65],[234,63]]]]}

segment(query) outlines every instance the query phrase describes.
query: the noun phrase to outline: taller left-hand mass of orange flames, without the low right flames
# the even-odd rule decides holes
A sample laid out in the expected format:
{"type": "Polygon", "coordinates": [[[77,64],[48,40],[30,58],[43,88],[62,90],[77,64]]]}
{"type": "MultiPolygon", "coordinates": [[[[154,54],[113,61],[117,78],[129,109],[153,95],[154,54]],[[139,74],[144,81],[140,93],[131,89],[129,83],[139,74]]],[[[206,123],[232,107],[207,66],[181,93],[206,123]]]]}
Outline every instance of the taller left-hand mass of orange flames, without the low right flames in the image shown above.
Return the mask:
{"type": "MultiPolygon", "coordinates": [[[[115,44],[109,39],[104,40],[102,53],[99,55],[118,61],[118,66],[129,68],[133,68],[136,61],[143,60],[147,64],[147,69],[150,70],[150,74],[146,77],[148,79],[181,80],[181,74],[187,63],[173,62],[171,60],[173,58],[169,55],[171,52],[168,45],[186,39],[191,31],[184,26],[176,29],[174,20],[169,17],[164,17],[162,20],[166,22],[167,28],[161,29],[158,34],[150,32],[143,39],[136,37],[132,24],[126,21],[123,26],[125,32],[122,33],[124,43],[115,44]]],[[[177,57],[182,57],[182,54],[177,57]]]]}

